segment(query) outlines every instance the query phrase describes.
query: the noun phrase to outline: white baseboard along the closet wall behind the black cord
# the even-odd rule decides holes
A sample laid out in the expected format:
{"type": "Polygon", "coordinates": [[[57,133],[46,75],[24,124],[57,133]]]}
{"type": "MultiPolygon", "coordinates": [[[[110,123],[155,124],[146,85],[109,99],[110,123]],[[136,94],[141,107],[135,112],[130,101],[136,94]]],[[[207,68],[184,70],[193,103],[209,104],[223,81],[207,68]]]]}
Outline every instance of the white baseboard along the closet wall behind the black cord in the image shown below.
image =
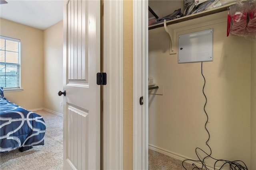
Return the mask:
{"type": "MultiPolygon", "coordinates": [[[[160,153],[162,153],[162,154],[165,154],[165,155],[167,155],[167,156],[174,157],[174,158],[179,159],[179,160],[182,160],[182,161],[183,161],[183,160],[186,160],[186,159],[191,159],[191,158],[187,158],[187,157],[182,156],[182,155],[180,155],[180,154],[177,154],[177,153],[171,152],[171,151],[169,151],[169,150],[162,149],[162,148],[156,147],[156,146],[154,146],[154,145],[150,145],[150,144],[148,144],[148,149],[154,150],[154,151],[156,151],[156,152],[160,152],[160,153]]],[[[190,164],[196,164],[196,166],[198,166],[198,167],[202,167],[202,164],[200,164],[200,163],[198,163],[198,162],[192,162],[192,161],[189,161],[189,160],[186,161],[186,162],[188,162],[188,163],[190,163],[190,164]]],[[[208,165],[208,164],[206,164],[206,166],[207,166],[207,168],[210,169],[210,170],[213,170],[213,169],[214,169],[213,166],[210,166],[210,165],[208,165]]],[[[215,168],[215,169],[217,170],[218,168],[215,168]]]]}

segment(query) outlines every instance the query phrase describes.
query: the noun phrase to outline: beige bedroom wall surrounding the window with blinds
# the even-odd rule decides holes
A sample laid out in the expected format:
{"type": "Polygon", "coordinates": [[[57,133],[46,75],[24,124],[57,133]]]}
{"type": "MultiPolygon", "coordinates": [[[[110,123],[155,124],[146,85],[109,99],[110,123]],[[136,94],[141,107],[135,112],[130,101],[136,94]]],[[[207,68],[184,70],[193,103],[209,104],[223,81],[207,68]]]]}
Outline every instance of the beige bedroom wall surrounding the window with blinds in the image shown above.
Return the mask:
{"type": "Polygon", "coordinates": [[[0,34],[20,39],[20,92],[4,92],[11,102],[26,109],[44,107],[44,35],[43,31],[0,18],[0,34]]]}

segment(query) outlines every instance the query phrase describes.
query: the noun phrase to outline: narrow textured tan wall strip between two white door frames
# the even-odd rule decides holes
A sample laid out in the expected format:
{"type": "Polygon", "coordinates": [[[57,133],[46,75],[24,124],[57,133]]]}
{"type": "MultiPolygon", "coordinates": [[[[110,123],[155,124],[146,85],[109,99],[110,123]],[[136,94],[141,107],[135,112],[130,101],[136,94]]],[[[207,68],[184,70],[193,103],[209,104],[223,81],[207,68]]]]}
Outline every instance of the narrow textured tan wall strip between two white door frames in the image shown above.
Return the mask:
{"type": "Polygon", "coordinates": [[[133,168],[133,20],[132,0],[123,3],[123,168],[133,168]]]}

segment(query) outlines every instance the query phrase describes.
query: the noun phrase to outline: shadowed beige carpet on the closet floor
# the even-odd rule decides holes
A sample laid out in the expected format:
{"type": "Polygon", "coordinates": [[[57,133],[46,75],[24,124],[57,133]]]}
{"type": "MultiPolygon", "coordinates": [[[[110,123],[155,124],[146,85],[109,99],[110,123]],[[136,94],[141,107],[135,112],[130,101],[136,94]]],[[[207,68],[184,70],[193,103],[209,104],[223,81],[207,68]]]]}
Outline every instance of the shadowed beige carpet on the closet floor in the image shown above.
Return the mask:
{"type": "MultiPolygon", "coordinates": [[[[194,167],[185,163],[188,170],[194,167]]],[[[148,169],[149,170],[184,170],[182,160],[167,156],[152,149],[148,149],[148,169]]]]}

